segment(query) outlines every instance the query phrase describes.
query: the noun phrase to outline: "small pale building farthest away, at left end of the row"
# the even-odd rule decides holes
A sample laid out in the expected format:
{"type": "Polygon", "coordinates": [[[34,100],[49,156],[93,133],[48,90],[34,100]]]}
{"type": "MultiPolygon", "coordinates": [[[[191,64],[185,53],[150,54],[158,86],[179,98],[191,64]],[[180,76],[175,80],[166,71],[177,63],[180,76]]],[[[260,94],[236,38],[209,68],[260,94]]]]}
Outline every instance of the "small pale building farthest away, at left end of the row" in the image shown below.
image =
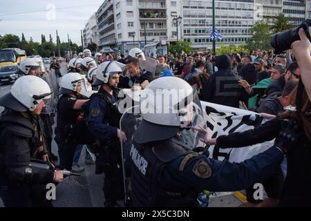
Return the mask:
{"type": "Polygon", "coordinates": [[[91,43],[95,43],[98,45],[97,21],[95,13],[86,22],[85,28],[83,30],[83,41],[85,47],[87,47],[88,44],[91,43]]]}

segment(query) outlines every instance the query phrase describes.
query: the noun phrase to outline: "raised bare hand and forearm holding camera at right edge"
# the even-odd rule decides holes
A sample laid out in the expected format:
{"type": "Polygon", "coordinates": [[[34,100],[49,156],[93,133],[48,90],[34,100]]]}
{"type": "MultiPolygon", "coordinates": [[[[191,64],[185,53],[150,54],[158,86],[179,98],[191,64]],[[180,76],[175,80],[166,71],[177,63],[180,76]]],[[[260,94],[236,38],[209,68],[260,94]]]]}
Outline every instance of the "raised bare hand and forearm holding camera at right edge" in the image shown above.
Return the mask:
{"type": "Polygon", "coordinates": [[[301,70],[305,91],[311,101],[311,44],[303,28],[300,28],[298,33],[301,40],[292,43],[292,50],[301,70]]]}

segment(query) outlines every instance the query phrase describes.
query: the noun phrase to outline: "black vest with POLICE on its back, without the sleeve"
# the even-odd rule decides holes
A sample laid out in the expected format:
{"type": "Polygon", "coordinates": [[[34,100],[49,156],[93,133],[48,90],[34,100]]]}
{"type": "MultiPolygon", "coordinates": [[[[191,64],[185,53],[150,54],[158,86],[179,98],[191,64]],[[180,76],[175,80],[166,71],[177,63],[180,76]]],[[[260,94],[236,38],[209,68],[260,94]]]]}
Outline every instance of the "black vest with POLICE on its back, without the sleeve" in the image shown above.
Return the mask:
{"type": "Polygon", "coordinates": [[[158,142],[140,146],[133,144],[131,148],[131,189],[133,206],[185,207],[196,206],[197,191],[176,189],[176,186],[161,188],[159,173],[168,162],[182,155],[192,153],[184,147],[172,142],[158,142]]]}

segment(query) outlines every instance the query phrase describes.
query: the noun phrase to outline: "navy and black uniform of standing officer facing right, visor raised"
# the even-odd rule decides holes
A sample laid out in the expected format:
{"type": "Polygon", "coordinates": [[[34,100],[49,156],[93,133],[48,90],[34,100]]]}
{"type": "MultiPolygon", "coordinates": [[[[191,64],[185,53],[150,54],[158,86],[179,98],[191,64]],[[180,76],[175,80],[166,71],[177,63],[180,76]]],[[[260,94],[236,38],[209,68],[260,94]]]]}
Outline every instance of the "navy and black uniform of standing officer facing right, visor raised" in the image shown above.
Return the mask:
{"type": "Polygon", "coordinates": [[[89,103],[88,131],[97,140],[96,174],[105,173],[105,206],[115,206],[117,200],[124,198],[120,141],[117,128],[120,113],[115,101],[117,92],[109,94],[102,87],[91,96],[89,103]]]}

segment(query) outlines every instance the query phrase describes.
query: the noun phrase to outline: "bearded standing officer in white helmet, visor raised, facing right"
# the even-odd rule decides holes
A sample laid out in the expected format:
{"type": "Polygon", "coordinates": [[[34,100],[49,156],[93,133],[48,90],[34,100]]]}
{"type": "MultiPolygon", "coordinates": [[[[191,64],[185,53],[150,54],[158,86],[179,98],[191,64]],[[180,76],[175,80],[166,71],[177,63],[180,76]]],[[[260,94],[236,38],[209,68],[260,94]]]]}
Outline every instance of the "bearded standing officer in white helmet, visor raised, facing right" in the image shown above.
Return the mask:
{"type": "Polygon", "coordinates": [[[105,174],[105,206],[117,206],[117,200],[123,199],[119,140],[126,140],[126,136],[118,128],[121,115],[115,103],[120,73],[122,69],[115,61],[100,64],[93,83],[93,86],[100,86],[100,90],[91,96],[89,104],[88,131],[97,140],[95,173],[105,174]]]}

